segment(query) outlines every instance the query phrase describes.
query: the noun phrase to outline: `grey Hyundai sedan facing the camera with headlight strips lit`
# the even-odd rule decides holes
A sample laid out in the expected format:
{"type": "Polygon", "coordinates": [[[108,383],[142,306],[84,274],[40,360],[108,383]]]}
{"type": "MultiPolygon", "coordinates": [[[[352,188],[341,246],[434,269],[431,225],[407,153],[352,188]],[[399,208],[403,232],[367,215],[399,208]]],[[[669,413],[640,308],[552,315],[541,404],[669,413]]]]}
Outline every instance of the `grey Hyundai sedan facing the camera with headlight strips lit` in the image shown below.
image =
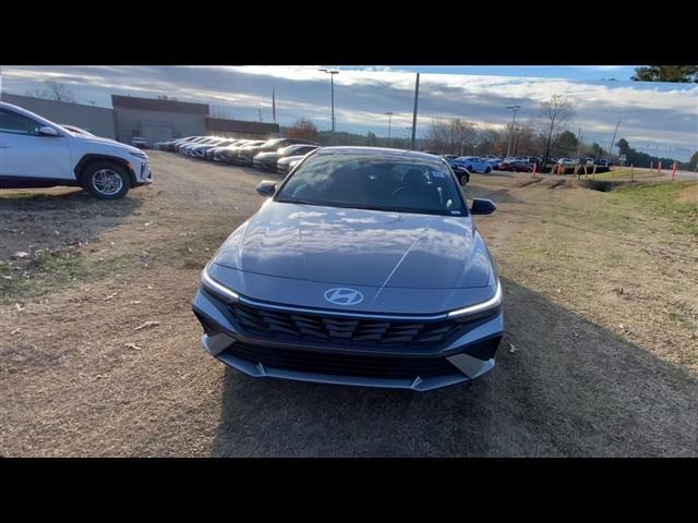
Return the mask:
{"type": "Polygon", "coordinates": [[[209,355],[257,378],[419,391],[494,367],[503,291],[472,215],[495,205],[468,207],[440,158],[323,147],[257,192],[193,299],[209,355]]]}

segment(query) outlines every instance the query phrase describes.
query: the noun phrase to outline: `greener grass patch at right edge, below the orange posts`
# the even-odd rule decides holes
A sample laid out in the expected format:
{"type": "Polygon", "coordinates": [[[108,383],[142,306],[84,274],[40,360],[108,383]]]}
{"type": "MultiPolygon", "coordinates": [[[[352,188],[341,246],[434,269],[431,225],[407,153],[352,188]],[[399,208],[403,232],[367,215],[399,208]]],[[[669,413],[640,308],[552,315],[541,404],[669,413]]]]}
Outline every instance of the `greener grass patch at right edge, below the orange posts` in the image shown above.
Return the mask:
{"type": "Polygon", "coordinates": [[[698,202],[682,198],[697,182],[657,182],[624,185],[613,191],[611,197],[640,207],[648,217],[669,219],[674,232],[698,236],[698,202]]]}

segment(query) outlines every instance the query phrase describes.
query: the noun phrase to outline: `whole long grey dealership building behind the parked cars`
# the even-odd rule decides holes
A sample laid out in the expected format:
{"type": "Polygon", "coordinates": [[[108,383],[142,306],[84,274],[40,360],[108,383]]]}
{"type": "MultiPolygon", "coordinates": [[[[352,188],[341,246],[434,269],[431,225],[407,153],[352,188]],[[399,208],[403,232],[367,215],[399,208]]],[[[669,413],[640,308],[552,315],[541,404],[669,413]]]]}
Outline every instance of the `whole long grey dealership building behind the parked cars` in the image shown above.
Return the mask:
{"type": "Polygon", "coordinates": [[[134,136],[149,144],[191,135],[266,139],[279,136],[277,123],[212,118],[207,104],[111,95],[112,109],[2,93],[2,101],[56,123],[85,129],[125,144],[134,136]]]}

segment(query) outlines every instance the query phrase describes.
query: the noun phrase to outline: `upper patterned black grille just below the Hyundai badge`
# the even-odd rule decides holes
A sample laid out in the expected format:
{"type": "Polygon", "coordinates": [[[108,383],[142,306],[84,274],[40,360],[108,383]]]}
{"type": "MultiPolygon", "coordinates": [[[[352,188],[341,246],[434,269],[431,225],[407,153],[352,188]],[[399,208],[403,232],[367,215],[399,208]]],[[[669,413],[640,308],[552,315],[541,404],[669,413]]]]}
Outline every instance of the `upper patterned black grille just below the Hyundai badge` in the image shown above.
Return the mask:
{"type": "Polygon", "coordinates": [[[240,303],[230,305],[240,327],[251,335],[279,340],[330,342],[346,345],[430,346],[450,339],[457,320],[390,321],[266,311],[240,303]]]}

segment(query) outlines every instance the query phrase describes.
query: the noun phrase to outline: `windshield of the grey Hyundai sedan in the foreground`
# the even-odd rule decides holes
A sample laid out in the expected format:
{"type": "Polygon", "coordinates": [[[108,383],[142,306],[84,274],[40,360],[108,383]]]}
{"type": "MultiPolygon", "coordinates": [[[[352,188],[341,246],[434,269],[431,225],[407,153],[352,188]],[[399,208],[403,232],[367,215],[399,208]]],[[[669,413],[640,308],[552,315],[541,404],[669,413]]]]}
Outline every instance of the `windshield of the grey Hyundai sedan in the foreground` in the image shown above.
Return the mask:
{"type": "Polygon", "coordinates": [[[276,202],[462,216],[467,208],[445,165],[376,155],[315,155],[281,186],[276,202]]]}

